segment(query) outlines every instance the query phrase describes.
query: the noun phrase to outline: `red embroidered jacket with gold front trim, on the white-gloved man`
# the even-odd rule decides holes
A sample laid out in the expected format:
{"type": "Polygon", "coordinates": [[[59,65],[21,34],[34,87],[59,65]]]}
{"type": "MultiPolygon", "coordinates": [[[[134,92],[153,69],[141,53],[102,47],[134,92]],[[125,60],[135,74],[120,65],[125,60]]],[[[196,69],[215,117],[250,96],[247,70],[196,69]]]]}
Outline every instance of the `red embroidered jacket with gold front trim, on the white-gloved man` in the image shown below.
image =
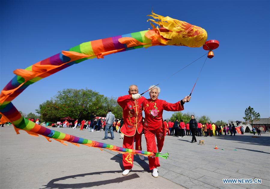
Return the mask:
{"type": "Polygon", "coordinates": [[[118,104],[123,108],[124,124],[120,131],[124,135],[134,136],[136,130],[139,134],[141,133],[143,129],[141,119],[144,100],[144,97],[134,100],[131,95],[120,96],[117,99],[118,104]]]}

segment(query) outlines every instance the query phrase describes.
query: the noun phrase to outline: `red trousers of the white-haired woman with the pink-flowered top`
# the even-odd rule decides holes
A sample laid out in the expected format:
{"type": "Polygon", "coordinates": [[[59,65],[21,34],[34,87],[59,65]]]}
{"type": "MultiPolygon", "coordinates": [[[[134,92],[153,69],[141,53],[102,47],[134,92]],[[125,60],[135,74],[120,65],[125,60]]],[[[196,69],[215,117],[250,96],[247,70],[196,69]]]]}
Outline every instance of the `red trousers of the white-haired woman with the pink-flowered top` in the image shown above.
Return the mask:
{"type": "MultiPolygon", "coordinates": [[[[165,135],[166,133],[164,132],[164,126],[156,130],[144,130],[147,152],[157,152],[156,141],[157,141],[157,146],[159,148],[159,152],[161,152],[163,144],[164,144],[165,135]],[[155,140],[155,134],[156,134],[156,140],[155,140]]],[[[150,170],[156,167],[160,167],[158,157],[148,156],[148,161],[149,161],[150,170]]]]}

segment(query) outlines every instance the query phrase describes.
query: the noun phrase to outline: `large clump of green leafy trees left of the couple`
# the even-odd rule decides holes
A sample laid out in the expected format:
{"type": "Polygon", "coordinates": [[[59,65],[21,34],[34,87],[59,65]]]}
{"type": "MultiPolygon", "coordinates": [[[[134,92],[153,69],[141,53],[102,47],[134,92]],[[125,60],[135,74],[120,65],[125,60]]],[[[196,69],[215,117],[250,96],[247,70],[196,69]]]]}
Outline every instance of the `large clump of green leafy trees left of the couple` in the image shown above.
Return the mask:
{"type": "Polygon", "coordinates": [[[117,118],[121,118],[122,108],[114,97],[105,97],[90,89],[64,89],[54,98],[47,100],[36,110],[44,121],[60,121],[63,117],[89,120],[90,115],[105,117],[111,109],[117,118]]]}

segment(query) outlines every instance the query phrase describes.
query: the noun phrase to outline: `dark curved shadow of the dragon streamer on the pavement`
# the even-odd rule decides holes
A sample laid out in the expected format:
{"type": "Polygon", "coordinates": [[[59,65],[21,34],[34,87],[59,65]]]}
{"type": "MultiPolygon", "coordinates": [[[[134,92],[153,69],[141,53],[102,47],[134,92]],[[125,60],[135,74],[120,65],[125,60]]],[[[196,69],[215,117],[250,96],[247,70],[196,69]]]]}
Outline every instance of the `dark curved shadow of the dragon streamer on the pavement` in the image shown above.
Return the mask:
{"type": "MultiPolygon", "coordinates": [[[[47,185],[43,185],[44,188],[41,189],[65,189],[65,188],[86,188],[86,187],[94,187],[94,186],[100,186],[100,185],[107,185],[111,183],[121,183],[126,180],[136,179],[140,176],[137,173],[134,172],[144,172],[142,170],[132,170],[129,175],[127,176],[121,176],[114,179],[109,180],[101,180],[101,181],[95,181],[95,182],[85,182],[85,183],[77,183],[77,184],[58,184],[55,182],[59,182],[61,180],[66,179],[76,179],[76,177],[84,177],[89,175],[102,175],[104,173],[122,173],[122,171],[101,171],[101,172],[94,172],[94,173],[85,173],[85,174],[79,174],[79,175],[71,175],[71,176],[65,176],[57,179],[53,179],[50,182],[48,182],[47,185]],[[134,174],[132,174],[134,173],[134,174]]],[[[102,177],[101,177],[102,178],[102,177]]],[[[104,177],[103,177],[104,178],[104,177]]]]}

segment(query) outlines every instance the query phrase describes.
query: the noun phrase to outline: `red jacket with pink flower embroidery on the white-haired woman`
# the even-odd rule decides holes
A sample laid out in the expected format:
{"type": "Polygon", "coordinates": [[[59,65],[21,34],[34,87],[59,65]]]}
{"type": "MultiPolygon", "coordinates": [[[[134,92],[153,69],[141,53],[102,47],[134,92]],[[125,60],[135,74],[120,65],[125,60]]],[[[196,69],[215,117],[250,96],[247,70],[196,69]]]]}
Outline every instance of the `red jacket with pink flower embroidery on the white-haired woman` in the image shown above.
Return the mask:
{"type": "MultiPolygon", "coordinates": [[[[182,102],[182,104],[184,104],[182,102]]],[[[163,110],[166,111],[182,111],[184,106],[181,105],[181,101],[175,104],[168,103],[165,100],[156,99],[152,101],[151,99],[146,99],[143,103],[145,120],[144,120],[144,130],[155,130],[163,125],[162,113],[163,110]]]]}

